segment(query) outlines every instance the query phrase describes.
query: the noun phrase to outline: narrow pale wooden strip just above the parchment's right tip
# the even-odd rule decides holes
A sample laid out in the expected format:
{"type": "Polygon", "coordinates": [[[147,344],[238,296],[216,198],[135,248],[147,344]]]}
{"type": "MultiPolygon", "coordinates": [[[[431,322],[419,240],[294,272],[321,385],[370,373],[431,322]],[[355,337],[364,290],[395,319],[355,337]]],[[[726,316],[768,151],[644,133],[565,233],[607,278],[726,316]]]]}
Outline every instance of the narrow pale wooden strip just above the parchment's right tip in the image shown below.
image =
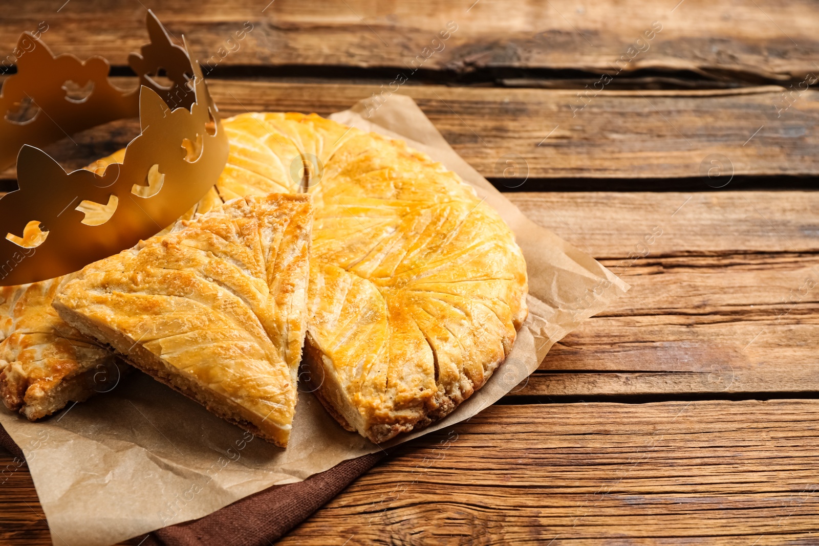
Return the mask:
{"type": "MultiPolygon", "coordinates": [[[[534,222],[599,259],[619,260],[640,250],[636,246],[654,228],[662,234],[649,245],[649,259],[711,256],[711,265],[719,267],[735,265],[736,259],[749,254],[819,250],[817,192],[522,192],[506,196],[534,222]]],[[[645,260],[635,265],[645,265],[645,260]]]]}

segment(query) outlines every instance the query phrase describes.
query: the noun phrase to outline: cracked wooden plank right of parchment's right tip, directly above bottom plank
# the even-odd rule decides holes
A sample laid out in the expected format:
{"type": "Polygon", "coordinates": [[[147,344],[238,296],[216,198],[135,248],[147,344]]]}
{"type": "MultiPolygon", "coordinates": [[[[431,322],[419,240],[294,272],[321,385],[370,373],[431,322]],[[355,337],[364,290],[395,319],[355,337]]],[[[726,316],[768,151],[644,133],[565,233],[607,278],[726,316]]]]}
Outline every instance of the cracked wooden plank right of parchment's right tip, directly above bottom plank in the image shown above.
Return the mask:
{"type": "Polygon", "coordinates": [[[701,261],[624,275],[627,296],[554,345],[514,395],[819,392],[819,258],[701,261]]]}

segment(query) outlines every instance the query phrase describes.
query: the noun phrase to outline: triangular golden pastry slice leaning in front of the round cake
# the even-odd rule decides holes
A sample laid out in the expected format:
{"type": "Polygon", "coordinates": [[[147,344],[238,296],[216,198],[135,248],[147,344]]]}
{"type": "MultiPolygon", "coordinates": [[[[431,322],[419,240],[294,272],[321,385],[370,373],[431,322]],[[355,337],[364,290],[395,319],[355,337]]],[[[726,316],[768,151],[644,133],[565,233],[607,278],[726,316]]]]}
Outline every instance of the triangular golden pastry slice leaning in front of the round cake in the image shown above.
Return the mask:
{"type": "Polygon", "coordinates": [[[54,307],[210,412],[285,446],[305,338],[312,205],[248,196],[86,266],[54,307]]]}

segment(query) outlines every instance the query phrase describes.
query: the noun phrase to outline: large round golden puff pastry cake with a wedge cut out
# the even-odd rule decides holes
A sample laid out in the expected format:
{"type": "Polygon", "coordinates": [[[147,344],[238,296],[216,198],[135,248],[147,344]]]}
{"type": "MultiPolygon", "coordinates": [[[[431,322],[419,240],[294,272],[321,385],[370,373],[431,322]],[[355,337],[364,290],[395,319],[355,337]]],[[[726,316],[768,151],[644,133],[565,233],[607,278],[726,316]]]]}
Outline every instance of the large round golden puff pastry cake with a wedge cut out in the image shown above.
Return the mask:
{"type": "Polygon", "coordinates": [[[405,142],[318,115],[245,114],[224,127],[235,168],[220,195],[300,183],[314,196],[302,378],[342,426],[383,442],[486,383],[527,316],[527,274],[472,187],[405,142]]]}

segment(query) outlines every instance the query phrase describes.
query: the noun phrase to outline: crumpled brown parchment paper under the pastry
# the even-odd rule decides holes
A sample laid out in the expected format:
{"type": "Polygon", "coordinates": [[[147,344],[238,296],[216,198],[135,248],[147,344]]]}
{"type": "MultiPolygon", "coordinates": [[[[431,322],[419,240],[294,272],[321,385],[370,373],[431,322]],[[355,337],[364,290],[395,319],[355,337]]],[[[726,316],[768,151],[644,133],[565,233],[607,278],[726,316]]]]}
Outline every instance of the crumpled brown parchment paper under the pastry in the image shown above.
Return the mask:
{"type": "MultiPolygon", "coordinates": [[[[506,362],[449,417],[395,444],[493,404],[536,370],[555,341],[628,286],[524,217],[449,147],[409,97],[392,95],[367,113],[362,102],[331,117],[402,138],[473,184],[514,230],[529,275],[529,318],[506,362]]],[[[53,543],[103,546],[206,516],[270,485],[301,481],[390,445],[342,430],[301,388],[287,449],[253,438],[139,372],[44,422],[2,411],[0,423],[25,453],[53,543]]]]}

